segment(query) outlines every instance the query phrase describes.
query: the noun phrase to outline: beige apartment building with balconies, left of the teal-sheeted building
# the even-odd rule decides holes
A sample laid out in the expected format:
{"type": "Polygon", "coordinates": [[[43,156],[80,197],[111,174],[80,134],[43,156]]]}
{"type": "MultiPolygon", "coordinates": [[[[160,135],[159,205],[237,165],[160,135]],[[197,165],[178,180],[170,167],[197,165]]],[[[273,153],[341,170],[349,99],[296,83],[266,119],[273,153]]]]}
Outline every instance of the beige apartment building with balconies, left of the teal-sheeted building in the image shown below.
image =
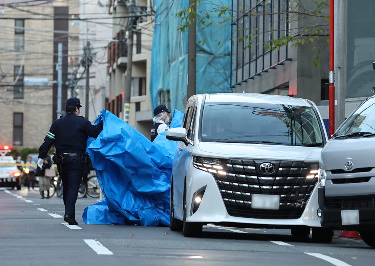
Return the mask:
{"type": "MultiPolygon", "coordinates": [[[[112,40],[108,44],[108,89],[106,109],[124,118],[124,91],[127,75],[129,1],[110,0],[113,17],[112,40]]],[[[134,32],[129,124],[149,138],[153,126],[149,93],[153,16],[151,0],[137,0],[135,11],[141,15],[134,32]]]]}

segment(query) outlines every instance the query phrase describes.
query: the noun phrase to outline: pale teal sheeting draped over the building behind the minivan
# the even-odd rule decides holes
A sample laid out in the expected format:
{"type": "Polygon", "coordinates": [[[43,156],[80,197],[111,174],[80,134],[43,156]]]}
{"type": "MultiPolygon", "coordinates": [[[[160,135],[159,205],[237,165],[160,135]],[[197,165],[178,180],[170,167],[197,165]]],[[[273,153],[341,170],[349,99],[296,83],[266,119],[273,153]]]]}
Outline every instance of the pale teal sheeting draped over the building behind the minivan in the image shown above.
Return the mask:
{"type": "MultiPolygon", "coordinates": [[[[175,14],[188,8],[189,0],[154,0],[155,26],[152,40],[150,94],[152,109],[170,95],[168,109],[184,111],[187,94],[188,32],[181,32],[181,21],[175,14]]],[[[196,93],[232,92],[230,88],[230,13],[218,17],[212,12],[218,6],[231,6],[230,0],[200,0],[197,11],[207,12],[215,24],[197,31],[196,93]],[[199,42],[200,41],[200,42],[199,42]],[[205,41],[202,45],[202,41],[205,41]],[[218,43],[221,42],[220,45],[218,43]]]]}

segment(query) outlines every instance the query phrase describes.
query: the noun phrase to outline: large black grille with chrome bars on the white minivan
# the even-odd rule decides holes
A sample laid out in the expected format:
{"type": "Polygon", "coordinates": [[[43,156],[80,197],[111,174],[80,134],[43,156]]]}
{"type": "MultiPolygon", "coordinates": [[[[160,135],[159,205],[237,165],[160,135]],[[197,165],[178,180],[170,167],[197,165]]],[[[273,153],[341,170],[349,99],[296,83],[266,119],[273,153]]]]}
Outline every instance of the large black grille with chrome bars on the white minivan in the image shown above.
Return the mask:
{"type": "MultiPolygon", "coordinates": [[[[199,163],[194,165],[199,168],[199,163]]],[[[236,217],[299,218],[317,182],[317,169],[304,162],[230,159],[220,166],[221,171],[208,171],[216,179],[228,214],[236,217]],[[260,172],[264,162],[275,166],[271,174],[260,172]],[[315,170],[312,175],[311,170],[315,170]],[[279,195],[279,210],[252,209],[252,194],[279,195]]]]}

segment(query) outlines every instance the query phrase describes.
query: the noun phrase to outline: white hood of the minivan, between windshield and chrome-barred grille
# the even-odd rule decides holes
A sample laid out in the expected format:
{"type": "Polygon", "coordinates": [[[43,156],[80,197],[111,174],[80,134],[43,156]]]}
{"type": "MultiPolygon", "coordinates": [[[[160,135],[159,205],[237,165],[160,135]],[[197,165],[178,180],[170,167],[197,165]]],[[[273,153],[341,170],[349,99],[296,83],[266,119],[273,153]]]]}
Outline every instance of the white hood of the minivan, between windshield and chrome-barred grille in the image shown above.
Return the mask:
{"type": "Polygon", "coordinates": [[[286,145],[214,143],[200,142],[202,156],[218,156],[224,158],[249,158],[269,160],[315,161],[320,159],[322,148],[286,145]]]}

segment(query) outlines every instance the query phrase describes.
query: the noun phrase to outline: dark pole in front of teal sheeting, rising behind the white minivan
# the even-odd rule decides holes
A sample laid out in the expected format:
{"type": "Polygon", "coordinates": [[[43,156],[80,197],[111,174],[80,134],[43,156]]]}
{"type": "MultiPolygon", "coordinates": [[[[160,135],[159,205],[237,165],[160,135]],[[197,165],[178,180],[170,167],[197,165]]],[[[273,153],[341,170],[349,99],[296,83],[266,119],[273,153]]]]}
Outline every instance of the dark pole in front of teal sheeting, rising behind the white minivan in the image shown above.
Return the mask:
{"type": "Polygon", "coordinates": [[[187,100],[196,94],[196,0],[189,0],[187,100]]]}

